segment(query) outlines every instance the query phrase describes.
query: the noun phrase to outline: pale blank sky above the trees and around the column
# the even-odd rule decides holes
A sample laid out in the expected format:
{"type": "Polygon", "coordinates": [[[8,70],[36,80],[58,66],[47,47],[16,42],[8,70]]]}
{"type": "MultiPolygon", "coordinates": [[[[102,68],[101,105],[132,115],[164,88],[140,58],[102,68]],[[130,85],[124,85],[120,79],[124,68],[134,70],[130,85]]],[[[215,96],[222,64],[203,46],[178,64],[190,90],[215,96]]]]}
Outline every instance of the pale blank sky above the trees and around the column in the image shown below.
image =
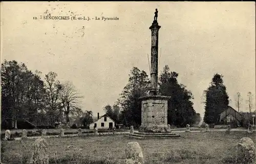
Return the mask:
{"type": "Polygon", "coordinates": [[[240,92],[240,111],[249,111],[247,93],[254,103],[256,82],[254,2],[1,2],[1,62],[25,63],[42,79],[56,72],[84,96],[83,111],[103,115],[133,67],[150,75],[149,27],[156,8],[159,74],[165,65],[176,71],[201,116],[203,91],[215,73],[222,74],[230,105],[236,108],[240,92]],[[91,20],[39,19],[49,15],[91,20]],[[119,20],[95,20],[102,16],[119,20]]]}

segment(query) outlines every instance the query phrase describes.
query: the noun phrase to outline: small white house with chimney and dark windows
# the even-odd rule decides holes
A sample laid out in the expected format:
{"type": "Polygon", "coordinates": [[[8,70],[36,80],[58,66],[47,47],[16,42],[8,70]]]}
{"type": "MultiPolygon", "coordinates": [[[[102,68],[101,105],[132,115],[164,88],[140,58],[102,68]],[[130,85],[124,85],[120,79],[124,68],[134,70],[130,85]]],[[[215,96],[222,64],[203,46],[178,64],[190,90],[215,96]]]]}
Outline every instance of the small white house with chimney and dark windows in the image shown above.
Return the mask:
{"type": "Polygon", "coordinates": [[[115,121],[112,120],[108,115],[99,117],[98,113],[98,119],[94,123],[90,124],[90,129],[94,129],[94,127],[97,127],[98,129],[112,129],[114,126],[115,121]]]}

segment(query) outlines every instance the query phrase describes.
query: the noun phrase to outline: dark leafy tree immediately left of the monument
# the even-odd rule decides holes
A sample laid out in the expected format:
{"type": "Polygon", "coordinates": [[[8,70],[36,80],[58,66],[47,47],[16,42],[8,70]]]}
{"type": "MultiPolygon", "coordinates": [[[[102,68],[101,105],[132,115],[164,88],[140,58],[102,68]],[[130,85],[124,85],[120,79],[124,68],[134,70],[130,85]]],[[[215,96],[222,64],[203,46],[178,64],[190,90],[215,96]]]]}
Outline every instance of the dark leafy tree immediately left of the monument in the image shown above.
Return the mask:
{"type": "Polygon", "coordinates": [[[139,98],[146,95],[150,88],[150,80],[145,71],[133,67],[129,74],[129,82],[123,88],[118,104],[122,108],[120,118],[126,126],[141,124],[141,101],[139,98]]]}

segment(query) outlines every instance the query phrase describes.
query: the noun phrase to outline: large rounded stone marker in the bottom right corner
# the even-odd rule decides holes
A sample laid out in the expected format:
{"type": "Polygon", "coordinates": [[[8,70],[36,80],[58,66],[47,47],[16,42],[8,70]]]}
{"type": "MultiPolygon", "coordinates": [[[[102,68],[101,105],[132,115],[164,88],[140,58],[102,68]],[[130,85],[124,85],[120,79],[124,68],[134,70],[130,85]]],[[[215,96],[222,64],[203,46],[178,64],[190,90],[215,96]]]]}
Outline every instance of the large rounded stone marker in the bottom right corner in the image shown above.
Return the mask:
{"type": "Polygon", "coordinates": [[[248,137],[244,137],[238,142],[237,163],[256,163],[256,148],[253,141],[248,137]]]}

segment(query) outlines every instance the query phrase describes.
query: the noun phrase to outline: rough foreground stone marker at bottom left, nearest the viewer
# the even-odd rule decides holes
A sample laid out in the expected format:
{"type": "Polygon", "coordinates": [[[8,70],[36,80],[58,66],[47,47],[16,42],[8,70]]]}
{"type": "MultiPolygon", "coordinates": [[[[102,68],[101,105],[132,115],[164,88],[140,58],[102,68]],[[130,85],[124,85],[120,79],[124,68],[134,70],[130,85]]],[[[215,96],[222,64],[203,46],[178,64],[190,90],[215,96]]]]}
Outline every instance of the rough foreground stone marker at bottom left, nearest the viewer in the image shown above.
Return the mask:
{"type": "Polygon", "coordinates": [[[29,164],[48,164],[48,144],[45,139],[39,137],[32,146],[32,155],[29,164]]]}

